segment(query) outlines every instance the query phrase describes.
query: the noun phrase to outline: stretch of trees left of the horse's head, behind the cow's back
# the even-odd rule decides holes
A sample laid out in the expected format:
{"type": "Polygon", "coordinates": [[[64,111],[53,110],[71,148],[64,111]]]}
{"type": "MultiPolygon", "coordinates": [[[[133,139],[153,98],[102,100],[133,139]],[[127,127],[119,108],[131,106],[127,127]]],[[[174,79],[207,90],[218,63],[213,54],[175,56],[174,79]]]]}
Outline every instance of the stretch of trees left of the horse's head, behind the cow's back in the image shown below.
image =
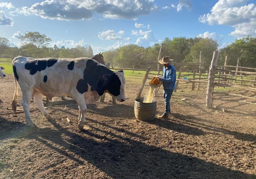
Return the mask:
{"type": "Polygon", "coordinates": [[[0,37],[0,57],[13,59],[18,55],[33,58],[78,58],[93,56],[91,46],[77,46],[75,48],[65,48],[63,46],[58,48],[57,45],[54,45],[54,47],[48,47],[51,39],[39,32],[27,32],[24,36],[20,37],[20,40],[22,41],[20,48],[10,47],[9,40],[0,37]]]}

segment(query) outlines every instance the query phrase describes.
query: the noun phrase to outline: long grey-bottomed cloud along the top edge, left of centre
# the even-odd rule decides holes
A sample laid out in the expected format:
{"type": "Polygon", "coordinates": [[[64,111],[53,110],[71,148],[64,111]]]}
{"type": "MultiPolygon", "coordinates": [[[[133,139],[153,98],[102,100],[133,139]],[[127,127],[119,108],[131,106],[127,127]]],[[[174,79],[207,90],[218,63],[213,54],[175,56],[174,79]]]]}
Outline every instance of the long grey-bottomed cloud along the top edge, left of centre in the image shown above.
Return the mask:
{"type": "Polygon", "coordinates": [[[16,13],[66,21],[91,19],[93,13],[104,18],[137,19],[157,8],[153,0],[45,0],[30,8],[22,7],[16,13]]]}

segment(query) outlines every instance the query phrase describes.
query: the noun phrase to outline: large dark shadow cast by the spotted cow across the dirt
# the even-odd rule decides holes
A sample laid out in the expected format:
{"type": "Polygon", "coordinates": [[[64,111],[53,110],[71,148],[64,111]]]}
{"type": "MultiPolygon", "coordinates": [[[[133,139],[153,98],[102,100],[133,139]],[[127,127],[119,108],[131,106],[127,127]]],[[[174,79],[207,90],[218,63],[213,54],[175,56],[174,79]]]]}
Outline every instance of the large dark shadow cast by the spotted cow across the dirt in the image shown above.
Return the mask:
{"type": "MultiPolygon", "coordinates": [[[[36,135],[23,137],[41,142],[48,148],[74,161],[77,166],[83,166],[84,161],[87,161],[112,178],[197,178],[198,173],[200,173],[201,178],[211,179],[255,177],[255,175],[230,170],[199,158],[146,145],[143,142],[132,140],[130,137],[115,135],[114,138],[116,139],[110,139],[107,135],[113,135],[112,132],[102,130],[105,134],[102,136],[84,131],[75,135],[55,123],[53,125],[57,130],[39,129],[36,131],[36,135]],[[50,133],[54,133],[54,137],[49,136],[50,133]],[[68,136],[68,139],[64,140],[63,135],[68,136]],[[85,138],[84,136],[90,137],[85,138]],[[98,142],[93,139],[101,139],[106,142],[98,142]],[[54,146],[51,142],[54,143],[54,146]],[[56,145],[61,147],[56,147],[56,145]],[[81,159],[74,156],[79,156],[81,159]]],[[[98,130],[101,131],[100,128],[98,130]]],[[[48,167],[54,166],[45,166],[45,168],[48,167]]]]}

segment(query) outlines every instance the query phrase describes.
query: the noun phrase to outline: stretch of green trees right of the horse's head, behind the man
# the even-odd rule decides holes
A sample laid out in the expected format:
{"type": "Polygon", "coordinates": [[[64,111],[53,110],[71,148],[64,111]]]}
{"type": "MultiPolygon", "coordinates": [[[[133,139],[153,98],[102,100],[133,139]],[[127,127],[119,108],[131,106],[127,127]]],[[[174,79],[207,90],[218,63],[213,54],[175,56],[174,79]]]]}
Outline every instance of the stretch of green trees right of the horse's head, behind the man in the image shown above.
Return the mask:
{"type": "MultiPolygon", "coordinates": [[[[152,63],[153,65],[157,62],[160,48],[159,43],[147,48],[131,44],[104,52],[104,59],[122,68],[133,65],[136,67],[138,64],[152,63]]],[[[160,57],[168,55],[177,63],[199,63],[201,51],[201,63],[211,64],[213,51],[217,49],[218,43],[212,38],[165,38],[160,57]]],[[[220,51],[218,65],[224,65],[227,55],[228,65],[236,66],[239,59],[239,65],[243,67],[256,67],[256,38],[247,36],[218,50],[220,51]]]]}

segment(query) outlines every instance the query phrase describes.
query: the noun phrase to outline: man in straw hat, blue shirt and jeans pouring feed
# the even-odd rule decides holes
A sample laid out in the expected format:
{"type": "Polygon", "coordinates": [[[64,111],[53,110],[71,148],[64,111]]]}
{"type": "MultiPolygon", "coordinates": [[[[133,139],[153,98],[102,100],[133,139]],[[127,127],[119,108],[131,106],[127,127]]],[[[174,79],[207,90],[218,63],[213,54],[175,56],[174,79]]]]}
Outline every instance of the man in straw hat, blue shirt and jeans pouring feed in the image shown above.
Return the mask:
{"type": "Polygon", "coordinates": [[[170,100],[176,84],[176,69],[170,64],[172,61],[169,56],[164,56],[159,60],[159,63],[163,64],[163,76],[158,80],[163,82],[163,100],[165,103],[165,111],[163,115],[159,116],[160,119],[168,119],[171,113],[170,100]]]}

